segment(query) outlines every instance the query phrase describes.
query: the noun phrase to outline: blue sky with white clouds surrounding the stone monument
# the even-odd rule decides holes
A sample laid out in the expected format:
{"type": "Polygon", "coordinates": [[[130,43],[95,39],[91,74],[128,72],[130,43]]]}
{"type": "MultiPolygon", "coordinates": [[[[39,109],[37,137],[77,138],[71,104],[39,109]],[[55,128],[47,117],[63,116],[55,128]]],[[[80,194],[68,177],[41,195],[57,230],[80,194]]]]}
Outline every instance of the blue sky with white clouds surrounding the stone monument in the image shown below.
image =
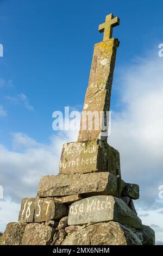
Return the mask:
{"type": "Polygon", "coordinates": [[[35,196],[41,176],[58,173],[61,145],[77,139],[52,130],[52,113],[82,109],[93,46],[103,38],[98,25],[113,13],[120,47],[109,143],[120,151],[123,179],[140,184],[143,223],[158,226],[163,243],[163,2],[5,0],[0,7],[0,231],[16,221],[22,197],[35,196]]]}

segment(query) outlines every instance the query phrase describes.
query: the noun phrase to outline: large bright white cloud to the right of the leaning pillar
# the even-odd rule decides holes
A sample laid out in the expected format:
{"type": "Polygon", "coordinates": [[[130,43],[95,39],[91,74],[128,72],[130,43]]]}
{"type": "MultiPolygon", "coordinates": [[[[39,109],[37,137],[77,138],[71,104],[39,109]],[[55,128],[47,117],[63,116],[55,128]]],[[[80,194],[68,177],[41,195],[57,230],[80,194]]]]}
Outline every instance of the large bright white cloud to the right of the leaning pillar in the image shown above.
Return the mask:
{"type": "MultiPolygon", "coordinates": [[[[108,142],[120,151],[122,179],[140,185],[143,206],[163,184],[163,58],[139,59],[121,70],[122,111],[112,113],[108,142]]],[[[155,205],[156,206],[156,205],[155,205]]]]}

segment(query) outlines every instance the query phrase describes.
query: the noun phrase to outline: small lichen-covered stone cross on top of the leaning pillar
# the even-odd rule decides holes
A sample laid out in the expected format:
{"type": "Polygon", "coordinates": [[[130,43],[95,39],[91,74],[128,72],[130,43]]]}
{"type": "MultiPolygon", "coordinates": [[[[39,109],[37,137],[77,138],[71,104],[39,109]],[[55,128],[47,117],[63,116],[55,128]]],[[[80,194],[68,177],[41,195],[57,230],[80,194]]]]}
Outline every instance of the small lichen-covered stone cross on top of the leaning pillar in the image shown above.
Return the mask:
{"type": "Polygon", "coordinates": [[[99,25],[98,31],[100,33],[104,32],[103,41],[112,38],[112,28],[120,25],[120,19],[118,17],[114,18],[114,15],[106,15],[105,22],[99,25]]]}

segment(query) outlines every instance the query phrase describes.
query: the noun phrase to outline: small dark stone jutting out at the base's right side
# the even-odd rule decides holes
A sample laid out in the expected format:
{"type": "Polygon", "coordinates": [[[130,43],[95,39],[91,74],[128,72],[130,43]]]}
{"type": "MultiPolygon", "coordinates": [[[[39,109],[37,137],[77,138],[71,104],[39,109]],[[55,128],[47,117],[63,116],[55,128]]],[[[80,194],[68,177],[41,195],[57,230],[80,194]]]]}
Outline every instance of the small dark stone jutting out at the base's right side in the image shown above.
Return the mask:
{"type": "Polygon", "coordinates": [[[122,190],[122,196],[139,199],[139,185],[127,183],[122,190]]]}

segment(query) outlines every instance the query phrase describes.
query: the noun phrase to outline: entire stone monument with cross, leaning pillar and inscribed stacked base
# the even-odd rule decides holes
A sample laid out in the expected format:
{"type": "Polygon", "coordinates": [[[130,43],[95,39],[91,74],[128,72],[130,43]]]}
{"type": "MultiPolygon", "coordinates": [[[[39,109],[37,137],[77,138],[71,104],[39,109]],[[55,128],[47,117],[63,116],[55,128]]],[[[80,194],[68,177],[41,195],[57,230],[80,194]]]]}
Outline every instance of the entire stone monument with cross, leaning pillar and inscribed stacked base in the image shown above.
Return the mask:
{"type": "Polygon", "coordinates": [[[94,47],[78,141],[63,145],[59,174],[43,176],[37,196],[22,200],[3,245],[154,245],[134,208],[139,186],[121,179],[120,154],[107,143],[119,24],[109,14],[99,25],[104,36],[94,47]]]}

